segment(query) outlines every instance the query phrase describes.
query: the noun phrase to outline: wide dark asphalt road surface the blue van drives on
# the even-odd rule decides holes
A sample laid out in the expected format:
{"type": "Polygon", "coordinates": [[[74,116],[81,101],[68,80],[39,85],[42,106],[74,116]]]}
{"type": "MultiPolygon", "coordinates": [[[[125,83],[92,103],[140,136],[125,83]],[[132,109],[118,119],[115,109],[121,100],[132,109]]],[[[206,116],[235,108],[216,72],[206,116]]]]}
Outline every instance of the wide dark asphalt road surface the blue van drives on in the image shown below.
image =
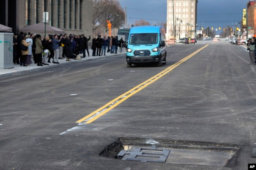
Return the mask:
{"type": "Polygon", "coordinates": [[[120,55],[0,77],[0,170],[247,170],[256,163],[255,75],[248,51],[221,40],[167,47],[161,67],[126,68],[120,55]],[[93,122],[77,123],[166,69],[93,122]],[[239,150],[225,167],[199,165],[193,153],[189,163],[100,155],[118,139],[239,150]]]}

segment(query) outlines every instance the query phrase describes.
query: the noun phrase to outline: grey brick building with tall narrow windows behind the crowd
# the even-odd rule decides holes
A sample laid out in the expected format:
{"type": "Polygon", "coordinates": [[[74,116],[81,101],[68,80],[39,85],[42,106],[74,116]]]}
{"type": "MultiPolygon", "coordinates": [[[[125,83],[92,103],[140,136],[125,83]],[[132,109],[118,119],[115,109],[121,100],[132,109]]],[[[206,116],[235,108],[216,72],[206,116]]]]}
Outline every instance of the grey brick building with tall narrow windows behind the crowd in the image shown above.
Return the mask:
{"type": "Polygon", "coordinates": [[[43,12],[48,12],[48,25],[67,34],[93,35],[92,0],[0,0],[0,24],[20,28],[43,23],[43,12]]]}

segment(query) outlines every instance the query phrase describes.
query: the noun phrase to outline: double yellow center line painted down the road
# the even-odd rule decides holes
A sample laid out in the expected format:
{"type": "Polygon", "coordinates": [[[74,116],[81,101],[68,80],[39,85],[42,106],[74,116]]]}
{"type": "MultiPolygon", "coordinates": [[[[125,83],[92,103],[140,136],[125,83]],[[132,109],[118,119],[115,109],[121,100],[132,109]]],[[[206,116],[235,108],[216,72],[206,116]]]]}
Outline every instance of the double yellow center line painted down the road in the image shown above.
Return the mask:
{"type": "Polygon", "coordinates": [[[170,67],[168,67],[167,69],[161,71],[160,73],[158,73],[157,75],[151,77],[150,79],[146,80],[145,82],[137,85],[136,87],[132,88],[131,90],[123,93],[122,95],[120,95],[119,97],[113,99],[112,101],[108,102],[107,104],[105,104],[104,106],[102,106],[101,108],[95,110],[94,112],[92,112],[91,114],[83,117],[82,119],[76,121],[76,123],[81,123],[84,122],[86,124],[89,124],[93,121],[95,121],[96,119],[98,119],[99,117],[101,117],[102,115],[104,115],[105,113],[109,112],[111,109],[115,108],[116,106],[118,106],[120,103],[124,102],[126,99],[128,99],[129,97],[131,97],[132,95],[138,93],[139,91],[141,91],[142,89],[144,89],[145,87],[147,87],[148,85],[152,84],[153,82],[155,82],[156,80],[160,79],[161,77],[163,77],[164,75],[166,75],[167,73],[169,73],[170,71],[172,71],[174,68],[176,68],[177,66],[179,66],[180,64],[182,64],[183,62],[185,62],[186,60],[188,60],[189,58],[193,57],[194,55],[196,55],[199,51],[201,51],[202,49],[206,48],[208,45],[198,49],[197,51],[195,51],[194,53],[188,55],[187,57],[183,58],[182,60],[176,62],[175,64],[171,65],[170,67]]]}

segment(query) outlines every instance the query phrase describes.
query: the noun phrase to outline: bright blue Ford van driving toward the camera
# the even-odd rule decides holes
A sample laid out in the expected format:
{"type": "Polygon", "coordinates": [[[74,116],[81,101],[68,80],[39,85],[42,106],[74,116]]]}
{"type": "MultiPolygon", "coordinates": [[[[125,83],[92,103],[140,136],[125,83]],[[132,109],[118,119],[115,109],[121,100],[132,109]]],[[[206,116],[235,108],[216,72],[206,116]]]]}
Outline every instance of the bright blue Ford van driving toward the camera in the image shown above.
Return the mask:
{"type": "Polygon", "coordinates": [[[138,26],[130,29],[125,43],[126,65],[166,64],[165,29],[163,26],[138,26]]]}

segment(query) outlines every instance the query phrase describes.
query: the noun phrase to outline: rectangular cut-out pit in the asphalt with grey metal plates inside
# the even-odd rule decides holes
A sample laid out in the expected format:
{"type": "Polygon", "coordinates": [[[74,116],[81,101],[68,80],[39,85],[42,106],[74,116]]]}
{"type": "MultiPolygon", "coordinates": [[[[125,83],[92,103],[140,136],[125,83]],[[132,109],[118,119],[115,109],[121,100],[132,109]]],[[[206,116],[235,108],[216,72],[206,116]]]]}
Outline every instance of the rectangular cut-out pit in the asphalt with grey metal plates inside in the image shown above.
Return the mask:
{"type": "Polygon", "coordinates": [[[237,165],[238,152],[235,144],[119,138],[100,155],[127,161],[231,167],[237,165]]]}

